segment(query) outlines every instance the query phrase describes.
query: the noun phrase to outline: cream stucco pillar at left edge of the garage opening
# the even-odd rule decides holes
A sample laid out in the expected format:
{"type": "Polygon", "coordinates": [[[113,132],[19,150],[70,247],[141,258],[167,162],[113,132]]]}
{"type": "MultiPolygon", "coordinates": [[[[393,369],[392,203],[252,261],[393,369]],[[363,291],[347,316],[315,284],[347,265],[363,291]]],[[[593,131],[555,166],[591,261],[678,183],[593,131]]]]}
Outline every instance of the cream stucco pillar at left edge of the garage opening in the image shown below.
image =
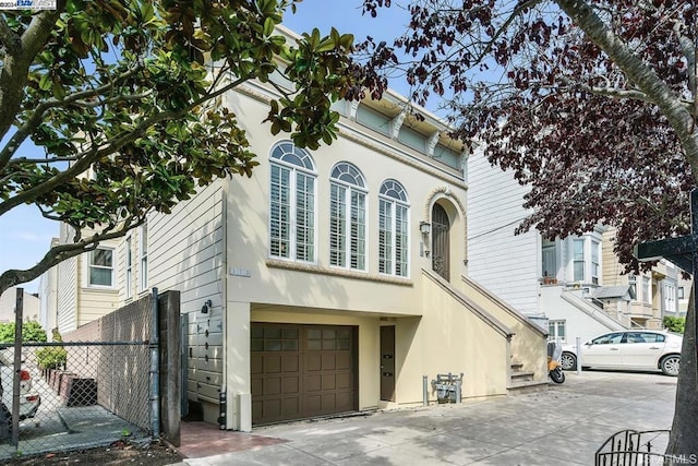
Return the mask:
{"type": "Polygon", "coordinates": [[[252,431],[250,303],[228,301],[226,310],[227,428],[252,431]]]}

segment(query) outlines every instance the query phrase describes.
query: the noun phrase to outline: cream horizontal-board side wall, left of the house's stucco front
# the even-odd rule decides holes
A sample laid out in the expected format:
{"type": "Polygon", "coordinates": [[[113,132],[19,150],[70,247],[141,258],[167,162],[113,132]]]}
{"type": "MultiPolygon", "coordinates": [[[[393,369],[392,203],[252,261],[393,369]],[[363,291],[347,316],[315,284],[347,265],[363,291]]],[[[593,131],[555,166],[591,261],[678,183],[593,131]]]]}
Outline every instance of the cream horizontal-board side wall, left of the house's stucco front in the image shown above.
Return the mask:
{"type": "Polygon", "coordinates": [[[222,182],[214,182],[171,214],[148,218],[148,286],[180,291],[189,314],[188,398],[210,403],[222,386],[222,182]]]}

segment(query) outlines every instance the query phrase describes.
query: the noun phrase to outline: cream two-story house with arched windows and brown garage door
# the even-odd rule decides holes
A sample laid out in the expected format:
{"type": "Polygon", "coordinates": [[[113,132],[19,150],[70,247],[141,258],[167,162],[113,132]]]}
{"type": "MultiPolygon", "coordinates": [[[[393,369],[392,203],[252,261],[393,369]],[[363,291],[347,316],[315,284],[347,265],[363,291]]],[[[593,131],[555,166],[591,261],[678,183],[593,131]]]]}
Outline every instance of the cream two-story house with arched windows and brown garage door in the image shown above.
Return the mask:
{"type": "Polygon", "coordinates": [[[466,160],[448,128],[387,92],[338,103],[338,140],[306,151],[260,124],[273,95],[225,96],[260,154],[252,178],[62,264],[59,326],[180,290],[183,394],[237,430],[419,405],[424,387],[434,402],[423,378],[449,372],[465,398],[515,390],[517,363],[546,386],[546,333],[468,277],[466,160]]]}

